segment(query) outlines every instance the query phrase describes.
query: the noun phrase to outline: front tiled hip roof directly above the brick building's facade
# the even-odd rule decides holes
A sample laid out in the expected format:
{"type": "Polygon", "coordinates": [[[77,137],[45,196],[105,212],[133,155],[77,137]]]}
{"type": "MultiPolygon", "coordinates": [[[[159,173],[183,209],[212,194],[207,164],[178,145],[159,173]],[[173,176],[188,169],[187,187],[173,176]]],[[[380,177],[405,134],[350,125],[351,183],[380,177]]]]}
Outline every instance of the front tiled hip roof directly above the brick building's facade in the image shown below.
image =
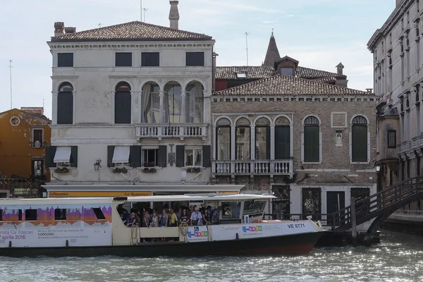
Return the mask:
{"type": "Polygon", "coordinates": [[[216,96],[240,95],[240,96],[279,96],[279,95],[367,95],[360,90],[347,87],[329,85],[323,82],[295,78],[289,75],[274,75],[250,82],[238,87],[215,92],[216,96]]]}

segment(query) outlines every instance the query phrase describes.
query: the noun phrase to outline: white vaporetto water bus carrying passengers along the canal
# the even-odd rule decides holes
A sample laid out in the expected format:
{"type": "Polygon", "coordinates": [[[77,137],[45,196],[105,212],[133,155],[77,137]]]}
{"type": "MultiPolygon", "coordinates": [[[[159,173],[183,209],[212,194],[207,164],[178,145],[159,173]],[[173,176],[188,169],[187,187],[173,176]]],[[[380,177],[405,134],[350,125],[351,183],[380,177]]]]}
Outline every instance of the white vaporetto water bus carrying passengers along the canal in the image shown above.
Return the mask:
{"type": "Polygon", "coordinates": [[[156,257],[310,252],[324,229],[311,219],[263,221],[266,202],[273,198],[272,195],[213,193],[2,199],[0,255],[156,257]],[[219,221],[204,226],[190,226],[188,222],[161,228],[128,227],[123,223],[118,209],[152,202],[215,207],[220,210],[219,221]]]}

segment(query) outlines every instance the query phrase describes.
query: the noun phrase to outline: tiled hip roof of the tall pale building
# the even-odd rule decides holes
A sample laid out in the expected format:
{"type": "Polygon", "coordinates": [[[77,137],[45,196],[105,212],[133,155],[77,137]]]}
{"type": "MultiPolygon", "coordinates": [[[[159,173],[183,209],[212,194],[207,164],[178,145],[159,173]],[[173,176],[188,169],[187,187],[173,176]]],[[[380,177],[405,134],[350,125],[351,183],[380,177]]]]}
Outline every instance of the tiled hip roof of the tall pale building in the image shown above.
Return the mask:
{"type": "Polygon", "coordinates": [[[51,37],[51,42],[212,40],[211,36],[134,21],[51,37]]]}

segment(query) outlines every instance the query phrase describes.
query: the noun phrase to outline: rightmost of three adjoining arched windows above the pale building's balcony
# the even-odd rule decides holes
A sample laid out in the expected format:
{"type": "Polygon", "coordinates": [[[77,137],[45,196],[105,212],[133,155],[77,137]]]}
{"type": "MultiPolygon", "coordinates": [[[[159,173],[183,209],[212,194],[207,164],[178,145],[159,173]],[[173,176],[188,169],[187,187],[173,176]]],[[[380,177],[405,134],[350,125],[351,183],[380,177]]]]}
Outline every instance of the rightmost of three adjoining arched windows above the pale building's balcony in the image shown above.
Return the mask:
{"type": "Polygon", "coordinates": [[[204,87],[200,82],[190,82],[185,88],[185,121],[187,123],[203,122],[204,87]]]}

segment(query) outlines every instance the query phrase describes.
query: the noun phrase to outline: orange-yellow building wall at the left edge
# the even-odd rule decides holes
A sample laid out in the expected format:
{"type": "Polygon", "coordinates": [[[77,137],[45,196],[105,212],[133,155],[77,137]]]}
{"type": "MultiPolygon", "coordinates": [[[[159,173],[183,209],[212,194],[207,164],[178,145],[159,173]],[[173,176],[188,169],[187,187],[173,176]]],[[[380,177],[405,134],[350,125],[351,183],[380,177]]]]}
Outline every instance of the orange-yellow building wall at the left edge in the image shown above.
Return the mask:
{"type": "MultiPolygon", "coordinates": [[[[49,119],[29,114],[19,109],[11,109],[0,113],[0,174],[3,178],[11,178],[14,174],[23,178],[33,175],[32,161],[42,160],[42,175],[49,181],[49,173],[45,168],[45,146],[50,144],[51,128],[49,119]],[[13,121],[18,121],[16,125],[13,121]],[[33,147],[33,129],[43,130],[43,142],[39,148],[33,147]]],[[[48,169],[48,168],[47,168],[48,169]]],[[[35,173],[34,173],[35,174],[35,173]]]]}

